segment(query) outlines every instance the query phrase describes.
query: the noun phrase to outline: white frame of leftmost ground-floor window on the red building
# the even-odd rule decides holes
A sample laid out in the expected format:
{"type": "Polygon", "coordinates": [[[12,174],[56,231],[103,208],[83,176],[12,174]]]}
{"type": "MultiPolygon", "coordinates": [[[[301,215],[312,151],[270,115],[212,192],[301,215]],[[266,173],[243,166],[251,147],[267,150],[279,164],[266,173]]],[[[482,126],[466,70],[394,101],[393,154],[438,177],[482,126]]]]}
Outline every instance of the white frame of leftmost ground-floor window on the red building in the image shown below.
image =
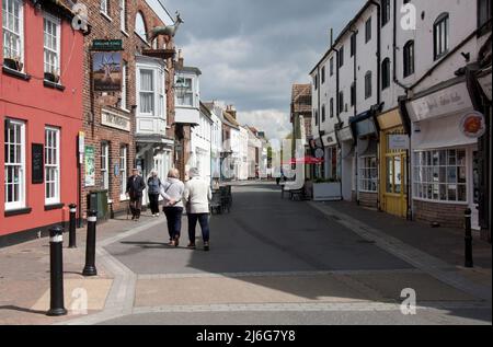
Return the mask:
{"type": "MultiPolygon", "coordinates": [[[[15,141],[15,139],[14,139],[15,141]]],[[[5,182],[3,183],[4,188],[4,197],[3,197],[3,204],[5,211],[22,209],[26,207],[26,122],[24,120],[18,120],[12,118],[5,118],[4,119],[4,138],[3,138],[3,147],[5,150],[5,147],[8,146],[15,146],[20,147],[20,162],[10,162],[10,158],[8,161],[8,158],[4,158],[4,175],[5,175],[5,182]],[[10,137],[8,141],[8,126],[16,125],[20,127],[20,142],[11,142],[10,137]],[[8,177],[8,167],[11,166],[18,166],[19,167],[19,200],[15,201],[8,201],[8,188],[7,188],[7,177],[8,177]]],[[[10,153],[10,148],[7,150],[8,153],[10,153]]],[[[14,149],[14,155],[16,149],[14,149]]],[[[9,155],[10,157],[10,155],[9,155]]],[[[13,185],[13,183],[11,184],[13,185]]]]}

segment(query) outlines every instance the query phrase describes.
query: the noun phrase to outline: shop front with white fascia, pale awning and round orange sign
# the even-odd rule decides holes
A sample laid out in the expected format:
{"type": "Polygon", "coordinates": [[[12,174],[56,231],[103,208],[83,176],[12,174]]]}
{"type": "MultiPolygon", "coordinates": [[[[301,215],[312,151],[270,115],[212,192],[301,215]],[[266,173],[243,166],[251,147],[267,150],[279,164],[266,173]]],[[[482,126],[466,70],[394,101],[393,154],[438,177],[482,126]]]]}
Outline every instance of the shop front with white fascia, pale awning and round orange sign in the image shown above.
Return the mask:
{"type": "Polygon", "coordinates": [[[412,189],[416,220],[463,228],[472,210],[479,230],[478,138],[484,116],[474,112],[462,78],[417,94],[408,103],[412,122],[412,189]]]}

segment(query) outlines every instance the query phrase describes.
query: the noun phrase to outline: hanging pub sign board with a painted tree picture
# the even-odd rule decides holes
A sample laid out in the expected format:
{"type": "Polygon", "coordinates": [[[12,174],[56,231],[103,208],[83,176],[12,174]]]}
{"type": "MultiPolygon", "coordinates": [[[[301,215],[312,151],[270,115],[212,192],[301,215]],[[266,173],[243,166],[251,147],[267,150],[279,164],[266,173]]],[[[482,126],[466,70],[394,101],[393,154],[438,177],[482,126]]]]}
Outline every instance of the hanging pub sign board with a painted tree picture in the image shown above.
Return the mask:
{"type": "Polygon", "coordinates": [[[121,92],[122,53],[93,53],[91,74],[94,92],[121,92]]]}

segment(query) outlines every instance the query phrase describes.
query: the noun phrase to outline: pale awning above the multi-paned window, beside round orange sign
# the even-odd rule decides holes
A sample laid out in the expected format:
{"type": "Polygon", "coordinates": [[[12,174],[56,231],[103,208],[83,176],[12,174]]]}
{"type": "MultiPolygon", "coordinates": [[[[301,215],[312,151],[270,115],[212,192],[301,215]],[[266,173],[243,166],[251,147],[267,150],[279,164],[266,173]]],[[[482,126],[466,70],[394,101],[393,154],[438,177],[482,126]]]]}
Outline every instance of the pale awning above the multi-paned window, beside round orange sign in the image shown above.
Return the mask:
{"type": "Polygon", "coordinates": [[[478,139],[460,131],[463,115],[455,115],[414,125],[412,148],[414,150],[439,149],[478,143],[478,139]]]}

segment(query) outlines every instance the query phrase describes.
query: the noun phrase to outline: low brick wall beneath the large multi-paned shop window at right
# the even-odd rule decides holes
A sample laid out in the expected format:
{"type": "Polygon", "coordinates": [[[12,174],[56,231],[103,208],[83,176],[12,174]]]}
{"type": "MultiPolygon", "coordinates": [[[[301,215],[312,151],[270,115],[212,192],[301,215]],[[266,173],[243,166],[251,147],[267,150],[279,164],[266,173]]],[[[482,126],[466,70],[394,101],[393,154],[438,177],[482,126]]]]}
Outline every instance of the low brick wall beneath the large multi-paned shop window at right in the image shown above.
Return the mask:
{"type": "Polygon", "coordinates": [[[420,222],[438,222],[445,228],[463,228],[467,205],[451,205],[414,200],[414,219],[420,222]]]}

